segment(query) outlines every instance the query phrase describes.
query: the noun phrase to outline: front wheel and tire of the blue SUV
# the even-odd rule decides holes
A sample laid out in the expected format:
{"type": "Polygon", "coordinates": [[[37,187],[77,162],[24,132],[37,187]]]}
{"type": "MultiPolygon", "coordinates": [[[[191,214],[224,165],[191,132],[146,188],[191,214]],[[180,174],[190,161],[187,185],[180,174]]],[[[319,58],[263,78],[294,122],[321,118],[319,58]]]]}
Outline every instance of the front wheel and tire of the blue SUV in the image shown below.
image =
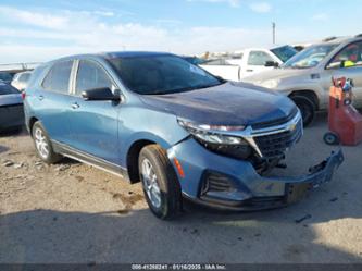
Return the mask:
{"type": "Polygon", "coordinates": [[[182,192],[165,151],[158,145],[146,146],[139,153],[138,169],[151,212],[163,220],[177,217],[182,210],[182,192]]]}

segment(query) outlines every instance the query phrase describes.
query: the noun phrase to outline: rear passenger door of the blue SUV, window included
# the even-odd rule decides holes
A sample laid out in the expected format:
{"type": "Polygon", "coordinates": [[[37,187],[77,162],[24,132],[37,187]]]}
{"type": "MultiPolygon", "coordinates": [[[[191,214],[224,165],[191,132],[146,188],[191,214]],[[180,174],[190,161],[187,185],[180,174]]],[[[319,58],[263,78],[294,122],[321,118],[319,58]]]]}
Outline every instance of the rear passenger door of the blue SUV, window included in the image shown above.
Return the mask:
{"type": "Polygon", "coordinates": [[[71,133],[66,111],[70,103],[73,60],[55,62],[34,97],[36,115],[51,139],[70,144],[71,133]]]}

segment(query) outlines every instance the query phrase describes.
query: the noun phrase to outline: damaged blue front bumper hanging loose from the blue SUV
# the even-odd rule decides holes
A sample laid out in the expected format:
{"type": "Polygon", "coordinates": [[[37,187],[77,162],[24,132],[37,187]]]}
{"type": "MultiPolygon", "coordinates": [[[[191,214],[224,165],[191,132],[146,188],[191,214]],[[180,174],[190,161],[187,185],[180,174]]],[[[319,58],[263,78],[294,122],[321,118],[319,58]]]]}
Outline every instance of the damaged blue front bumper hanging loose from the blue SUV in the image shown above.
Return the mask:
{"type": "Polygon", "coordinates": [[[342,151],[338,150],[312,167],[309,174],[261,176],[250,162],[219,156],[192,139],[171,148],[168,158],[176,158],[183,167],[184,175],[178,177],[186,198],[217,209],[245,211],[296,202],[308,190],[329,182],[344,162],[342,151]]]}

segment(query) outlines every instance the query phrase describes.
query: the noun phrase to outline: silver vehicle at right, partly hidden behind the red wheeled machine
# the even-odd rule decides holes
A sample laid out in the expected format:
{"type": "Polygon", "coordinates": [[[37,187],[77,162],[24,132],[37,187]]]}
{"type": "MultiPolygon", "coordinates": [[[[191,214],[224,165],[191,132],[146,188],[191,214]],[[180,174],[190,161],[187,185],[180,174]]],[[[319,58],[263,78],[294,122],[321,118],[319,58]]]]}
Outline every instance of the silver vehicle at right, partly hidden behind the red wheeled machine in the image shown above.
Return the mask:
{"type": "Polygon", "coordinates": [[[289,96],[300,108],[304,126],[315,111],[328,107],[332,77],[354,83],[354,106],[362,106],[362,35],[335,38],[302,50],[282,66],[244,79],[289,96]]]}

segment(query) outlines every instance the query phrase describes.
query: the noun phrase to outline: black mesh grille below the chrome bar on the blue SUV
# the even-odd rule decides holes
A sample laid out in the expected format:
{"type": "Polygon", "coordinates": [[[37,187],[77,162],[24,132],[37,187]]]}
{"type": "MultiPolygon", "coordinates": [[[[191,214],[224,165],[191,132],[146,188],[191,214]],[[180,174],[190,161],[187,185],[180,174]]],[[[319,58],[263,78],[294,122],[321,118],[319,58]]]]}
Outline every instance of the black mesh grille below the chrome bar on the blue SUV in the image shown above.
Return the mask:
{"type": "Polygon", "coordinates": [[[257,136],[254,140],[263,157],[273,158],[283,156],[287,148],[297,143],[302,135],[302,121],[300,120],[296,128],[277,134],[257,136]]]}

